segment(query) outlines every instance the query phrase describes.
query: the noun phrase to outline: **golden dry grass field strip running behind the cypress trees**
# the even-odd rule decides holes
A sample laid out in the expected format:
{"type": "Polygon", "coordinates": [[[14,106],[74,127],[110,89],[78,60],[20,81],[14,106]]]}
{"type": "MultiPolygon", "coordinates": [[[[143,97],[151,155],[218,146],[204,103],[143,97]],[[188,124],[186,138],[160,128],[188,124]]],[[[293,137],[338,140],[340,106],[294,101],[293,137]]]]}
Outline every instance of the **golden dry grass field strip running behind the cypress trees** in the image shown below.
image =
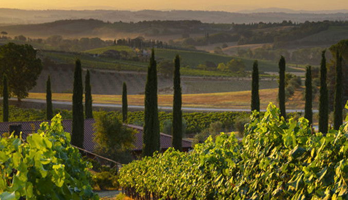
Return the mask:
{"type": "MultiPolygon", "coordinates": [[[[260,90],[260,106],[261,109],[266,109],[269,102],[277,102],[278,89],[263,89],[260,90]]],[[[144,95],[128,95],[129,105],[141,106],[144,104],[144,95]]],[[[196,108],[235,108],[249,109],[250,108],[250,91],[239,92],[221,92],[221,93],[205,93],[205,94],[182,94],[183,107],[196,108]]],[[[31,99],[45,99],[45,93],[29,93],[31,99]]],[[[52,99],[55,101],[71,101],[71,93],[53,93],[52,99]]],[[[104,104],[121,104],[121,95],[93,95],[94,103],[104,104]]],[[[159,94],[159,106],[172,106],[173,95],[159,94]]],[[[297,91],[294,97],[287,102],[288,109],[303,109],[304,101],[302,99],[302,91],[297,91]]],[[[314,108],[316,105],[314,105],[314,108]]]]}

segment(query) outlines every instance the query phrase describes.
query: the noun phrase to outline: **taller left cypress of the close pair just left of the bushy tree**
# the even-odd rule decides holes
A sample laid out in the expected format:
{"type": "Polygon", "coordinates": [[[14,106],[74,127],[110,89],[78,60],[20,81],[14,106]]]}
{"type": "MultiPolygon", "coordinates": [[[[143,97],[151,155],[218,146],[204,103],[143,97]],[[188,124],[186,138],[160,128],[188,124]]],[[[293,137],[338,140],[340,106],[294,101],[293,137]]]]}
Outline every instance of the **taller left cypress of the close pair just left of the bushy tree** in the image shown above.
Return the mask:
{"type": "Polygon", "coordinates": [[[80,59],[76,60],[74,72],[74,89],[72,93],[72,135],[71,144],[83,148],[83,86],[80,59]]]}

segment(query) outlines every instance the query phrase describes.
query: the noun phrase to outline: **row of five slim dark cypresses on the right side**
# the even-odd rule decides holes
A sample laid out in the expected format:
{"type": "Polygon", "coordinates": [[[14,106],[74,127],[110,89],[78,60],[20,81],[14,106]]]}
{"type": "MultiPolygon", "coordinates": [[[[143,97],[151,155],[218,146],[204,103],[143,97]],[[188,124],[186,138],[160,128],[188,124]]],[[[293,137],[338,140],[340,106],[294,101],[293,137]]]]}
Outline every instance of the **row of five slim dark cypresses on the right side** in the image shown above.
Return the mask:
{"type": "MultiPolygon", "coordinates": [[[[328,129],[328,91],[326,84],[326,58],[325,50],[322,51],[322,58],[320,64],[320,97],[319,97],[319,131],[326,134],[328,129]]],[[[343,97],[342,97],[342,55],[339,51],[336,52],[336,81],[335,81],[335,102],[334,102],[334,129],[338,130],[342,125],[343,118],[343,97]]],[[[258,61],[253,63],[252,70],[252,85],[251,85],[251,111],[260,111],[260,97],[259,97],[259,71],[258,61]]],[[[305,76],[305,108],[304,117],[308,119],[309,124],[313,123],[312,111],[312,69],[310,66],[306,67],[305,76]]],[[[286,119],[285,110],[285,58],[281,56],[279,61],[279,91],[278,100],[281,116],[286,119]]]]}

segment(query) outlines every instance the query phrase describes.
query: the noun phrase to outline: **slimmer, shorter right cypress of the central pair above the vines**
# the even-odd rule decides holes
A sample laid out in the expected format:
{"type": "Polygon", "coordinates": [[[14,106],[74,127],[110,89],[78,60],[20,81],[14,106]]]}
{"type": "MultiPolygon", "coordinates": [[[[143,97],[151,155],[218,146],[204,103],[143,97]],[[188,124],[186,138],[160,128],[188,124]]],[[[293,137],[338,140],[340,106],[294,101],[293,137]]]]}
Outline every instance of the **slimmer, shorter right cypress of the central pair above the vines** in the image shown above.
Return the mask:
{"type": "Polygon", "coordinates": [[[181,86],[180,86],[180,57],[174,59],[174,97],[173,97],[173,141],[176,150],[181,151],[182,145],[182,112],[181,112],[181,86]]]}

